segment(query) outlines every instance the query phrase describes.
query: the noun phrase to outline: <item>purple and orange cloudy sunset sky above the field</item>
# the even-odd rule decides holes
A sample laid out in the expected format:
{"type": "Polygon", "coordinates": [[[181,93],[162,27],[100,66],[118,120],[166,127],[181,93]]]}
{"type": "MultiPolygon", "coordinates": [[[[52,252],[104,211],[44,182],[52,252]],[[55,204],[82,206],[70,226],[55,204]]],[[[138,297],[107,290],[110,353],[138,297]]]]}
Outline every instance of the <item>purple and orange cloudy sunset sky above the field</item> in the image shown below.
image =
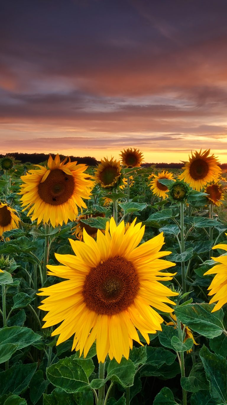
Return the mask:
{"type": "Polygon", "coordinates": [[[7,0],[0,153],[227,162],[226,0],[7,0]]]}

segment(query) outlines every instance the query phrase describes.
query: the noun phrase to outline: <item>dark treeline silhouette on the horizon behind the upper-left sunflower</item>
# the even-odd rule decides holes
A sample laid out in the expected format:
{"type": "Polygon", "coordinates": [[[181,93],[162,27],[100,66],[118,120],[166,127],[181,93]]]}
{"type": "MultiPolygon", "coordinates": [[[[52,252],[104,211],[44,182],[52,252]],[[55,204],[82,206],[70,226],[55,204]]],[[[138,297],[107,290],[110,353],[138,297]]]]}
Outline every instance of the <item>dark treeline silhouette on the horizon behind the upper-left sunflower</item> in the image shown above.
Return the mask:
{"type": "MultiPolygon", "coordinates": [[[[48,160],[49,156],[52,155],[52,158],[54,159],[56,153],[18,153],[18,152],[10,152],[6,153],[6,155],[14,156],[16,160],[20,160],[21,163],[33,163],[33,164],[39,164],[41,162],[45,162],[45,160],[48,160]]],[[[0,154],[0,158],[2,158],[5,155],[0,154]]],[[[65,155],[59,155],[60,159],[66,158],[65,155]]],[[[95,158],[91,158],[90,156],[85,156],[85,158],[79,158],[75,156],[69,156],[69,158],[72,161],[77,161],[77,163],[83,163],[87,164],[88,166],[96,166],[98,164],[98,161],[95,158]]]]}

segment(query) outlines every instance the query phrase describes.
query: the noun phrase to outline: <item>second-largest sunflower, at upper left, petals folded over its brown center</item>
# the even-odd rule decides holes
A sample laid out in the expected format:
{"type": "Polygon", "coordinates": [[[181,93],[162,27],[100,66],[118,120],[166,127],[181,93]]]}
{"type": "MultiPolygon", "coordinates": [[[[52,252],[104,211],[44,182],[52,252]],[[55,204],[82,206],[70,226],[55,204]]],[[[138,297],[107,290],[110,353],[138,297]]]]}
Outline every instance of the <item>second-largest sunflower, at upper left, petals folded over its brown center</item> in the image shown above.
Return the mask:
{"type": "Polygon", "coordinates": [[[77,162],[65,163],[67,158],[60,162],[58,154],[55,159],[48,159],[48,168],[38,166],[38,170],[29,170],[29,174],[21,176],[21,197],[23,209],[29,209],[31,220],[37,219],[50,223],[53,227],[62,225],[63,221],[74,221],[78,215],[77,206],[87,208],[82,198],[90,199],[93,183],[86,180],[83,173],[87,166],[77,162]]]}

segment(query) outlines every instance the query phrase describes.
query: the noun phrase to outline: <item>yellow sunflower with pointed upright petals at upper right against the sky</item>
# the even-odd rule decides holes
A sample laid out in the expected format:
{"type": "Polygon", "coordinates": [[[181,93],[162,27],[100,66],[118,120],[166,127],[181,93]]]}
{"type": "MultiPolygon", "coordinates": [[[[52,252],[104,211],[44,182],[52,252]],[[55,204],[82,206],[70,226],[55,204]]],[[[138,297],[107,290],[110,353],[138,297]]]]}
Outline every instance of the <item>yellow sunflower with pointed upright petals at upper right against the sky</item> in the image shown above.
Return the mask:
{"type": "Polygon", "coordinates": [[[189,156],[189,162],[183,166],[183,173],[179,175],[179,179],[188,183],[192,188],[200,191],[206,183],[210,181],[217,181],[221,175],[221,168],[218,166],[219,162],[214,155],[208,156],[210,149],[206,149],[201,153],[192,153],[189,156]]]}

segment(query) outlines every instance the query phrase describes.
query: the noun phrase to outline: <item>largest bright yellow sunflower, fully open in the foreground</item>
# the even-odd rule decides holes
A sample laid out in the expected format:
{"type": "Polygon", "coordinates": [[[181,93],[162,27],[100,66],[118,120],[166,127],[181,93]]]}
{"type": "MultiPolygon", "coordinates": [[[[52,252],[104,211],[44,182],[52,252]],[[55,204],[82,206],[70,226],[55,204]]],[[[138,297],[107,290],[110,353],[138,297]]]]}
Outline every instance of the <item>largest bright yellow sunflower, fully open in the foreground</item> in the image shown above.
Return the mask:
{"type": "Polygon", "coordinates": [[[48,274],[68,280],[42,288],[39,295],[48,296],[40,306],[49,311],[43,327],[63,321],[52,333],[60,335],[57,344],[75,334],[72,350],[80,355],[86,357],[96,340],[99,362],[107,354],[120,362],[123,355],[129,357],[132,339],[140,343],[136,328],[147,343],[148,333],[161,330],[163,319],[155,309],[172,312],[166,303],[174,303],[167,297],[178,295],[160,283],[176,273],[161,270],[175,264],[160,260],[170,254],[160,252],[162,233],[137,246],[144,234],[141,225],[134,220],[125,232],[124,222],[117,226],[111,218],[105,234],[98,230],[97,241],[85,229],[84,242],[69,239],[76,256],[55,254],[62,265],[48,265],[48,274]]]}

